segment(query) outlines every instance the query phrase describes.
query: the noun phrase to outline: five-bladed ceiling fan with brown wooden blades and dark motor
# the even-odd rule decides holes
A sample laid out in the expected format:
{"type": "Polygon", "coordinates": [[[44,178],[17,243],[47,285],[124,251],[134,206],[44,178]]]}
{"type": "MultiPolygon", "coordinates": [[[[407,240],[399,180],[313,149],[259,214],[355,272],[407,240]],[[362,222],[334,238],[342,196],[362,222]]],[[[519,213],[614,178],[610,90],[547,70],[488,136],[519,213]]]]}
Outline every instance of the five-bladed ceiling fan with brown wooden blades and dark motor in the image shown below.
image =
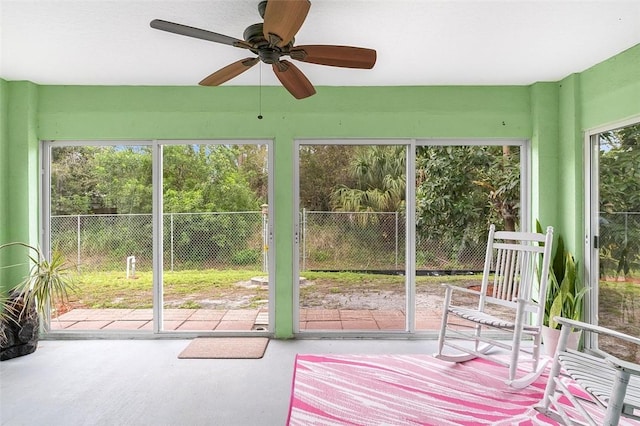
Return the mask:
{"type": "Polygon", "coordinates": [[[294,46],[294,36],[302,27],[310,7],[309,0],[261,1],[258,12],[264,23],[248,26],[244,30],[244,40],[161,19],[154,19],[150,25],[170,33],[247,49],[258,55],[257,58],[241,59],[219,69],[205,77],[199,83],[202,86],[219,86],[262,61],[272,66],[280,83],[296,99],[303,99],[316,93],[316,90],[298,67],[281,59],[283,56],[301,62],[344,68],[370,69],[376,63],[376,51],[373,49],[332,45],[294,46]]]}

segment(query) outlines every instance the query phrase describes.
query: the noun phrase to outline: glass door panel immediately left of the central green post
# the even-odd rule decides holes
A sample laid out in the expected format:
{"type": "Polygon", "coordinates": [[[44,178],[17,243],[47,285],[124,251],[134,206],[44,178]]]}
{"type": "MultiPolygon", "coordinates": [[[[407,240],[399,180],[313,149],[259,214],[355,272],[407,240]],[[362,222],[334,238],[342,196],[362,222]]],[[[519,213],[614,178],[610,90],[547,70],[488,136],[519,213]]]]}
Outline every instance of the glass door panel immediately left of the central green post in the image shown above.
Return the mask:
{"type": "Polygon", "coordinates": [[[165,144],[165,331],[267,330],[266,144],[165,144]]]}

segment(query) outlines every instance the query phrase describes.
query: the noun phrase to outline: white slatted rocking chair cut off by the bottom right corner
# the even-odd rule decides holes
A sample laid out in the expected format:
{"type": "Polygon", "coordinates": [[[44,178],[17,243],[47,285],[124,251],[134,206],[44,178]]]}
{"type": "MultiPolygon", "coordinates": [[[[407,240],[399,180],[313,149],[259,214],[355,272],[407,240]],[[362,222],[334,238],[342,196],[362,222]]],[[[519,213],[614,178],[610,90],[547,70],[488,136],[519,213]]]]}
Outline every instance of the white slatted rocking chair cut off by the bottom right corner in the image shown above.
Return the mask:
{"type": "Polygon", "coordinates": [[[571,328],[574,328],[631,342],[639,348],[640,339],[566,318],[556,317],[556,320],[562,324],[560,340],[544,397],[536,409],[565,425],[610,426],[617,425],[621,417],[640,420],[640,365],[623,361],[601,350],[586,353],[568,349],[567,337],[571,328]],[[590,395],[592,401],[574,396],[562,380],[567,376],[590,395]],[[567,406],[558,401],[562,396],[571,402],[583,419],[568,414],[567,406]],[[586,409],[589,406],[591,410],[586,409]],[[597,410],[594,411],[594,408],[597,410]],[[603,420],[596,422],[594,415],[598,412],[603,414],[603,420]]]}

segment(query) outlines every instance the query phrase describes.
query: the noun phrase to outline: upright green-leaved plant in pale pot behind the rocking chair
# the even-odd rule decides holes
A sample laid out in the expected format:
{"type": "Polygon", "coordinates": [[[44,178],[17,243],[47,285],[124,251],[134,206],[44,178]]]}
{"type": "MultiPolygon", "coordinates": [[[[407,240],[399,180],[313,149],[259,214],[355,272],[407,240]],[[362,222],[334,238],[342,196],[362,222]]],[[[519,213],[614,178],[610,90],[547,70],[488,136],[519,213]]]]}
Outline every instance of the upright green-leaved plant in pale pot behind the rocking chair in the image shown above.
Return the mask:
{"type": "MultiPolygon", "coordinates": [[[[544,307],[542,341],[545,352],[552,356],[555,353],[560,337],[560,324],[554,318],[564,317],[582,320],[584,295],[589,287],[581,284],[577,265],[573,255],[565,250],[562,236],[558,236],[556,252],[549,269],[547,298],[544,307]]],[[[577,348],[580,332],[569,335],[569,347],[577,348]]]]}

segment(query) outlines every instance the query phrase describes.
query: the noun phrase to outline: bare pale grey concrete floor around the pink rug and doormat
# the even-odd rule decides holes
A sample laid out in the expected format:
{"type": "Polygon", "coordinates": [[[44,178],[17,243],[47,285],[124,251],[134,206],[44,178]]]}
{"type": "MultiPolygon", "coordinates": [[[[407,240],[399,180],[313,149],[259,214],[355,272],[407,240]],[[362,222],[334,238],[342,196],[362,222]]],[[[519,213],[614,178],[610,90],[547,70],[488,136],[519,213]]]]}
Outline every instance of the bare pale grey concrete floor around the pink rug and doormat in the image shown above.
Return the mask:
{"type": "Polygon", "coordinates": [[[434,340],[271,340],[262,359],[178,359],[188,340],[44,340],[0,363],[1,425],[285,425],[297,353],[432,353],[434,340]]]}

